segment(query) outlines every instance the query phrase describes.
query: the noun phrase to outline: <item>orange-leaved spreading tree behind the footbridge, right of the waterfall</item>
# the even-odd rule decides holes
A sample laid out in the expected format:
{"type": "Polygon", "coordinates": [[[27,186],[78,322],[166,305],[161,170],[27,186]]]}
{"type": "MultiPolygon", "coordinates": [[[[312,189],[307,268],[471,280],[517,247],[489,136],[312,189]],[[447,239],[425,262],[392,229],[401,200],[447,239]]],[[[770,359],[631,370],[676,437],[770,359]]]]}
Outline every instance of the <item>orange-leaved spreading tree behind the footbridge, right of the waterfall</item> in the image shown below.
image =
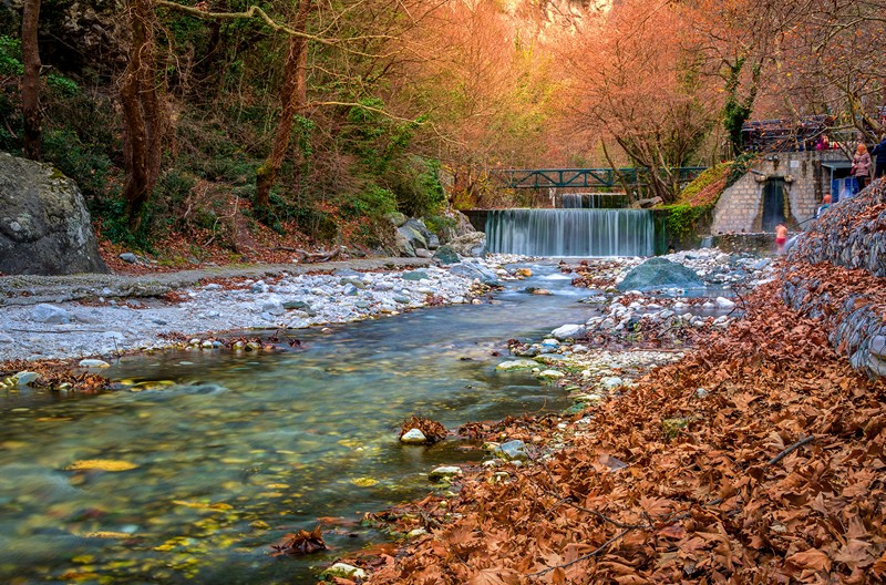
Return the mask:
{"type": "Polygon", "coordinates": [[[715,116],[701,55],[681,43],[683,24],[666,4],[650,12],[624,3],[567,55],[571,115],[593,140],[602,134],[647,168],[649,191],[666,202],[679,194],[677,168],[692,162],[715,116]]]}

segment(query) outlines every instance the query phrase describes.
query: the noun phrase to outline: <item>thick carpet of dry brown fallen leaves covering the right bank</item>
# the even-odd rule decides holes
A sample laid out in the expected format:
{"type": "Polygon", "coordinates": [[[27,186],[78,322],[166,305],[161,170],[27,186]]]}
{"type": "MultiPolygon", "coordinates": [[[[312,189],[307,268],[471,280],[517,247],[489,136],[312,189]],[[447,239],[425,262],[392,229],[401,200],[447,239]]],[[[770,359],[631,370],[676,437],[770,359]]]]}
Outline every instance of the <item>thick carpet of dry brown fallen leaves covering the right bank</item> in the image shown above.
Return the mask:
{"type": "Polygon", "coordinates": [[[886,383],[852,370],[776,284],[746,309],[586,413],[568,449],[420,503],[409,517],[430,534],[371,563],[370,583],[886,578],[886,383]]]}

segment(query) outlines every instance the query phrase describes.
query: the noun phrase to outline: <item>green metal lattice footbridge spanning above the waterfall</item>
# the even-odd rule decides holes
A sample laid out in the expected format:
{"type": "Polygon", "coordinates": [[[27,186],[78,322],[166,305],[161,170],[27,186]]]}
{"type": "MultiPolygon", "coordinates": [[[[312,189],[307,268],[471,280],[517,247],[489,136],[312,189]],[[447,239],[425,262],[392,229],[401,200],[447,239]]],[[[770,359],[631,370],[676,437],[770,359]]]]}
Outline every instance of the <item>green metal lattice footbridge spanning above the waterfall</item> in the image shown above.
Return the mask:
{"type": "MultiPolygon", "coordinates": [[[[707,166],[682,166],[676,168],[678,183],[690,183],[707,166]]],[[[493,179],[503,188],[556,188],[556,187],[619,187],[648,185],[648,168],[494,168],[493,179]]]]}

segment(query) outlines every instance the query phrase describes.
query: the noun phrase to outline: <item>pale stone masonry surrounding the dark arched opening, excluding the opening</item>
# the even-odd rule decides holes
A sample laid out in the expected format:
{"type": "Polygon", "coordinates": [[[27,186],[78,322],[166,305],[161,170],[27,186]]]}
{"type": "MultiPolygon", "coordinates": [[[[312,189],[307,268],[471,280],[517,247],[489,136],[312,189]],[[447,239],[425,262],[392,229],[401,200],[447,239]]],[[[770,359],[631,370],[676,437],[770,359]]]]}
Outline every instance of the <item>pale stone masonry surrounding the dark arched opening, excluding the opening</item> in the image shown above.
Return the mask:
{"type": "Polygon", "coordinates": [[[787,227],[815,215],[822,197],[831,191],[831,174],[823,161],[845,161],[841,151],[806,151],[765,155],[720,196],[711,234],[758,233],[763,228],[763,187],[767,178],[784,178],[787,227]]]}

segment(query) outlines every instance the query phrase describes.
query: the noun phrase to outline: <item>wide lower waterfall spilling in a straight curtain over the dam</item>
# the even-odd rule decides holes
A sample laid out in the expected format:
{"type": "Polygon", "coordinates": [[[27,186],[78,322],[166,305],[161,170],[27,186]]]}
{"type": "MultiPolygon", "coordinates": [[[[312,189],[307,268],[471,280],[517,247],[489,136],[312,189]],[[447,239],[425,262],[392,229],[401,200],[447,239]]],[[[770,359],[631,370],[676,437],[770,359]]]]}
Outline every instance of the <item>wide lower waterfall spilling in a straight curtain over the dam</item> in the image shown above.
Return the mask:
{"type": "Polygon", "coordinates": [[[525,256],[652,256],[652,214],[646,209],[491,211],[486,247],[525,256]]]}

